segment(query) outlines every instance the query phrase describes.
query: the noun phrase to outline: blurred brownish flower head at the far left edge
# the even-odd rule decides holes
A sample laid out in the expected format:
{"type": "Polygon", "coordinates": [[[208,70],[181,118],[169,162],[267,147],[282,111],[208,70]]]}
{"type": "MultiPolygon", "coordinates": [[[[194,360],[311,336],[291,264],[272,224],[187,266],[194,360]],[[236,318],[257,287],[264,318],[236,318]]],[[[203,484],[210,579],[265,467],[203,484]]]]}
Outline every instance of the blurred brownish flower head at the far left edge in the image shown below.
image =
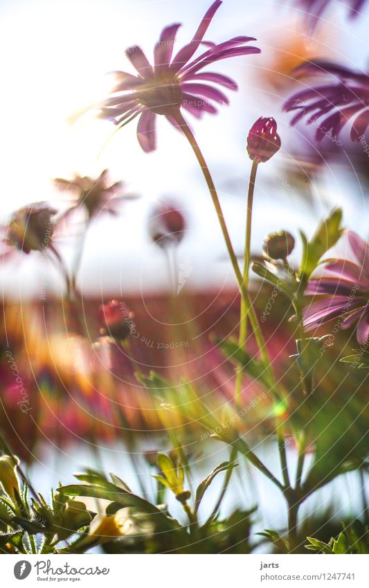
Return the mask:
{"type": "Polygon", "coordinates": [[[56,214],[53,208],[44,203],[24,206],[12,214],[7,226],[2,229],[3,256],[9,253],[24,251],[42,251],[51,246],[56,214]]]}

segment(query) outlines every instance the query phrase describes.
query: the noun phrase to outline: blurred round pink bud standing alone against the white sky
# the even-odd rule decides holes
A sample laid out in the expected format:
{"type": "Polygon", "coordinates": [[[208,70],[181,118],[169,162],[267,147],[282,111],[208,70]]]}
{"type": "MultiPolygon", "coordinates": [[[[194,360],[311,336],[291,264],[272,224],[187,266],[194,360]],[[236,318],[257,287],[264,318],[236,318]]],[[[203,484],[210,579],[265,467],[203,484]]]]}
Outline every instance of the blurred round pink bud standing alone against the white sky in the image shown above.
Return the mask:
{"type": "Polygon", "coordinates": [[[162,204],[154,208],[149,220],[149,233],[159,247],[179,244],[183,239],[186,222],[178,208],[162,204]]]}

